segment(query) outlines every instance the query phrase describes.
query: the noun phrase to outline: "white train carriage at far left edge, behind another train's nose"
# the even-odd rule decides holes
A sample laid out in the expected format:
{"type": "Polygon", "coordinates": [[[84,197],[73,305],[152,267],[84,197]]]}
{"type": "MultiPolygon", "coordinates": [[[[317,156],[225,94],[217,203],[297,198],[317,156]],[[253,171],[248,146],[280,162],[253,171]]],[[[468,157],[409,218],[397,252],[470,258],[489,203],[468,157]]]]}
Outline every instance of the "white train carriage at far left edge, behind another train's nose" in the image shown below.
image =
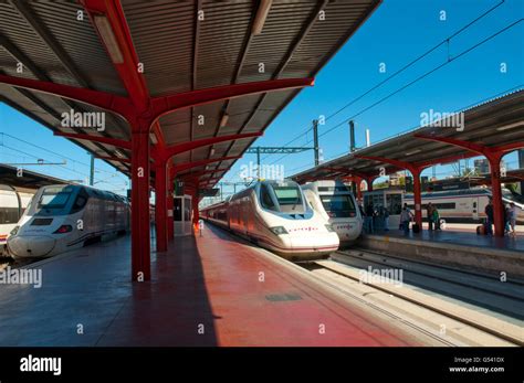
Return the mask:
{"type": "Polygon", "coordinates": [[[9,233],[17,226],[32,196],[31,192],[0,184],[0,254],[4,251],[9,233]]]}

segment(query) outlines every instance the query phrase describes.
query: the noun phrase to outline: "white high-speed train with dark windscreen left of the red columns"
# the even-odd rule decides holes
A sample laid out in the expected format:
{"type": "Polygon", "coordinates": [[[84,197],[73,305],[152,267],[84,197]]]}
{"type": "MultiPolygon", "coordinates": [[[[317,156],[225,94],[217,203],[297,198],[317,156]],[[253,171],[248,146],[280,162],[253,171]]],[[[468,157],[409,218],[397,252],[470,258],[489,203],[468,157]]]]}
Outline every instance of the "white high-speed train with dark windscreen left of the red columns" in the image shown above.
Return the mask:
{"type": "Polygon", "coordinates": [[[41,188],[8,238],[13,257],[49,257],[129,230],[125,198],[94,188],[41,188]]]}

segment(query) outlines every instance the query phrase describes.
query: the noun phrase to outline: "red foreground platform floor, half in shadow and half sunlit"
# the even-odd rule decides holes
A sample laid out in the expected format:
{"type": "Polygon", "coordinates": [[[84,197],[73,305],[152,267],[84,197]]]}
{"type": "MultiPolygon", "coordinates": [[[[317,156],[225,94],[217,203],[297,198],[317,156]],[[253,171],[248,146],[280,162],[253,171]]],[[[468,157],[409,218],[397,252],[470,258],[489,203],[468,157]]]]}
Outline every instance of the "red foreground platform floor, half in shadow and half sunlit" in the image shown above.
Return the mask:
{"type": "Polygon", "coordinates": [[[373,309],[218,228],[153,254],[132,283],[129,237],[38,265],[40,289],[0,285],[0,345],[418,345],[373,309]],[[264,274],[264,281],[260,280],[264,274]],[[202,326],[203,325],[203,326],[202,326]],[[324,330],[324,331],[323,331],[324,330]]]}

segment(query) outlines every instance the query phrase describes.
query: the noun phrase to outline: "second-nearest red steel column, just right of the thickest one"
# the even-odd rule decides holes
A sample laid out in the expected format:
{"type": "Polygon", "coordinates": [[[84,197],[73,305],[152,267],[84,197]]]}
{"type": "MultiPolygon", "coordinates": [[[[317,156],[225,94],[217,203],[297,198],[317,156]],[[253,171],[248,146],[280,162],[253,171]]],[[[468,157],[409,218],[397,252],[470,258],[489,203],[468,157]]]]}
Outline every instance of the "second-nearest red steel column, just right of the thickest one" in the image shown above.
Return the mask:
{"type": "Polygon", "coordinates": [[[157,252],[167,251],[167,163],[155,162],[155,224],[157,230],[157,252]]]}

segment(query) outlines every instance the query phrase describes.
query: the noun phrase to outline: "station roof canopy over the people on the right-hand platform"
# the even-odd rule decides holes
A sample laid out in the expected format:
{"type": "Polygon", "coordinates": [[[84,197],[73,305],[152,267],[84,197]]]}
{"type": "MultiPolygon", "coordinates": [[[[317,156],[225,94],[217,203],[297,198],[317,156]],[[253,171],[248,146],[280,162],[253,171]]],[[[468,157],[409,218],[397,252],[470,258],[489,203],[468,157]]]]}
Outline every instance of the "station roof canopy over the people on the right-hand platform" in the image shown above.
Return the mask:
{"type": "Polygon", "coordinates": [[[296,173],[297,182],[355,177],[373,180],[399,170],[423,170],[460,159],[524,148],[524,89],[458,111],[452,117],[358,149],[296,173]],[[461,125],[461,126],[460,126],[461,125]]]}

